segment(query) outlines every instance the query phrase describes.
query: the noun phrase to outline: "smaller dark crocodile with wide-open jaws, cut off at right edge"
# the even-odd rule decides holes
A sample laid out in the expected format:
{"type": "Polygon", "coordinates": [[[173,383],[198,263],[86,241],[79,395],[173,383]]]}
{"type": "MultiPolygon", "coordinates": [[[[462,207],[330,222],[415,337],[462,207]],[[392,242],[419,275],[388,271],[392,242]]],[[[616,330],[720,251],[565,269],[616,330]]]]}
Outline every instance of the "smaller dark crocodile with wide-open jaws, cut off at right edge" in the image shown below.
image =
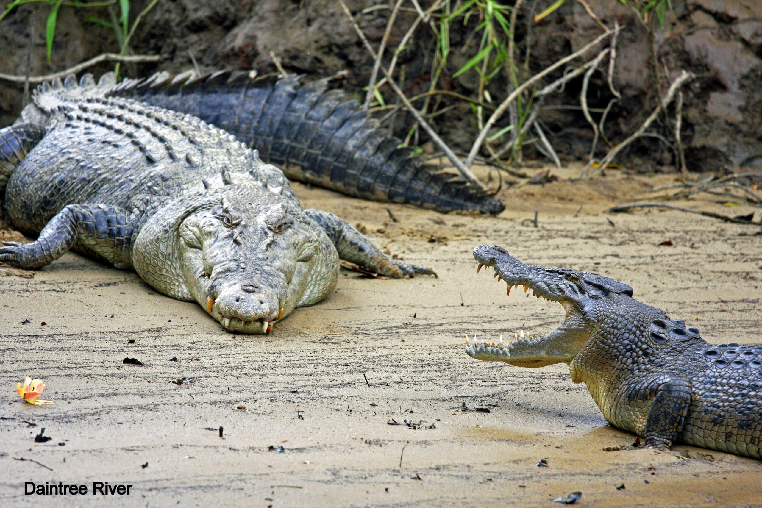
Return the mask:
{"type": "Polygon", "coordinates": [[[647,448],[681,441],[762,458],[762,347],[710,344],[684,321],[632,299],[608,277],[523,264],[503,248],[481,245],[474,257],[514,286],[559,302],[563,324],[506,343],[467,340],[466,352],[521,367],[567,363],[613,426],[645,438],[647,448]]]}

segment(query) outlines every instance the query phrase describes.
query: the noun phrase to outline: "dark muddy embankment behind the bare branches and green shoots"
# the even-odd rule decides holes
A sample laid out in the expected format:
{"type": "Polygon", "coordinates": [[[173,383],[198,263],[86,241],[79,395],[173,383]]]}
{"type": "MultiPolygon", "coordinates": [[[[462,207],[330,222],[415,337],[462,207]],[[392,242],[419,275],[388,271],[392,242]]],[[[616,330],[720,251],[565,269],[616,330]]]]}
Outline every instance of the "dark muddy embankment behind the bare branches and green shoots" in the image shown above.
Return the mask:
{"type": "MultiPolygon", "coordinates": [[[[147,3],[132,2],[133,17],[147,3]]],[[[425,8],[429,2],[421,4],[425,8]]],[[[624,26],[617,44],[613,78],[622,99],[613,104],[608,114],[605,127],[608,139],[616,143],[632,133],[680,69],[688,69],[696,74],[696,79],[684,89],[682,138],[688,167],[693,171],[718,171],[725,166],[762,168],[762,116],[758,114],[762,110],[762,4],[751,0],[689,0],[673,4],[661,26],[655,19],[644,23],[632,8],[620,2],[588,2],[602,23],[611,27],[618,21],[624,26]]],[[[388,2],[360,0],[347,5],[371,43],[378,45],[390,12],[388,2]]],[[[545,7],[537,0],[523,2],[518,14],[517,62],[522,78],[578,50],[602,30],[580,2],[571,1],[532,24],[532,14],[545,7]]],[[[85,22],[86,15],[98,11],[62,6],[53,58],[46,62],[43,27],[49,11],[47,5],[24,5],[0,22],[2,72],[19,75],[26,72],[32,13],[36,16],[30,53],[32,75],[66,69],[104,51],[117,50],[111,30],[85,22]]],[[[107,18],[107,13],[100,14],[107,18]]],[[[399,12],[389,48],[397,47],[417,15],[412,8],[399,12]]],[[[452,25],[453,51],[447,68],[450,74],[441,78],[440,88],[475,95],[478,86],[475,72],[454,79],[450,76],[478,52],[479,37],[469,37],[477,23],[472,17],[465,26],[459,22],[452,25]]],[[[421,25],[413,42],[399,55],[398,69],[405,70],[408,96],[426,91],[431,81],[436,41],[431,28],[421,25]]],[[[305,73],[309,78],[346,70],[345,87],[360,91],[367,85],[373,66],[334,0],[159,2],[139,25],[132,48],[135,53],[166,57],[159,64],[126,65],[126,74],[133,76],[157,69],[171,72],[190,69],[191,53],[202,71],[238,67],[274,72],[271,59],[274,53],[283,60],[287,71],[305,73]]],[[[387,61],[392,52],[388,53],[387,61]]],[[[588,104],[596,121],[614,98],[604,68],[608,65],[602,65],[593,75],[588,91],[588,104]]],[[[98,74],[107,69],[110,65],[103,64],[92,70],[98,74]]],[[[489,83],[488,90],[495,101],[505,96],[505,83],[504,75],[489,83]]],[[[393,103],[391,91],[386,87],[382,91],[386,100],[393,103]]],[[[587,158],[590,150],[593,132],[579,107],[580,91],[578,78],[549,97],[539,114],[562,161],[587,158]]],[[[22,100],[22,85],[0,82],[0,126],[14,121],[22,100]]],[[[437,116],[433,123],[450,145],[467,150],[477,132],[474,116],[469,104],[458,103],[452,97],[440,97],[438,108],[453,104],[453,109],[437,116]]],[[[507,122],[506,117],[501,124],[507,122]]],[[[392,129],[404,136],[411,125],[411,117],[400,113],[392,129]]],[[[650,130],[674,140],[674,105],[650,130]]],[[[428,146],[426,141],[423,135],[418,139],[419,144],[428,146]]],[[[599,143],[597,155],[603,155],[607,148],[599,143]]],[[[645,137],[632,143],[620,156],[620,162],[638,171],[674,171],[673,148],[656,137],[645,137]]],[[[525,155],[528,159],[541,157],[531,147],[527,147],[525,155]]]]}

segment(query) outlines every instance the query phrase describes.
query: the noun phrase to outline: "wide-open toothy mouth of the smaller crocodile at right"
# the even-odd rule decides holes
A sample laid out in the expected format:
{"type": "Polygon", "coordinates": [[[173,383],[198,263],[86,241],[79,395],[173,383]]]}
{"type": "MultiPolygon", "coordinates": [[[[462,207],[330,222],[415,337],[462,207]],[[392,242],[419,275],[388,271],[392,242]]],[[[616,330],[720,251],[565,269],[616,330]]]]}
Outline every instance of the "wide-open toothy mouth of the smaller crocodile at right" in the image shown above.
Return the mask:
{"type": "Polygon", "coordinates": [[[476,256],[476,259],[479,261],[477,272],[481,271],[482,267],[492,267],[495,270],[493,277],[498,282],[505,281],[508,296],[511,295],[511,289],[523,287],[523,292],[531,291],[532,295],[538,299],[542,298],[562,305],[565,310],[565,320],[559,327],[546,334],[529,334],[522,329],[513,334],[507,334],[507,337],[500,335],[497,340],[494,338],[479,340],[477,336],[469,338],[466,334],[466,353],[475,359],[503,361],[524,367],[539,367],[557,363],[559,351],[555,347],[556,344],[564,342],[570,334],[576,336],[582,331],[581,327],[577,325],[578,323],[574,321],[575,315],[578,314],[577,305],[565,296],[549,292],[549,289],[543,286],[541,282],[535,283],[528,277],[501,270],[501,267],[495,264],[493,260],[482,259],[479,256],[476,256]]]}

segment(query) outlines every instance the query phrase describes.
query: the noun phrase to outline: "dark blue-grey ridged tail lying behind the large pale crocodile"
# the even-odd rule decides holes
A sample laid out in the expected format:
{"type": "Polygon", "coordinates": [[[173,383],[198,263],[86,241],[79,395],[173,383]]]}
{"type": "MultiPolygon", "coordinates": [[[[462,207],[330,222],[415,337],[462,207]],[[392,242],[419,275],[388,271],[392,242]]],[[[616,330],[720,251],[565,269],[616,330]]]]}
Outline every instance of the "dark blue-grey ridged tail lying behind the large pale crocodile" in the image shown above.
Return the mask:
{"type": "Polygon", "coordinates": [[[292,180],[440,212],[505,208],[503,200],[400,146],[353,97],[331,89],[331,78],[302,85],[299,75],[159,73],[123,81],[110,94],[200,117],[257,149],[292,180]]]}

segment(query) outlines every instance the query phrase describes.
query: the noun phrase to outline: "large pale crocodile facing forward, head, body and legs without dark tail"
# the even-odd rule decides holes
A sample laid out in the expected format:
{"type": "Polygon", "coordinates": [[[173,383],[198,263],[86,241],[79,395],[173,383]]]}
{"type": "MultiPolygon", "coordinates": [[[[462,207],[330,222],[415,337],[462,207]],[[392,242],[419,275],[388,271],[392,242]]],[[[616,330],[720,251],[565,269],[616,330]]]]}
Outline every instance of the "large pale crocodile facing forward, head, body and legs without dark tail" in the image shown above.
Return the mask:
{"type": "Polygon", "coordinates": [[[6,242],[0,261],[34,269],[75,248],[248,334],[325,298],[339,258],[392,277],[433,274],[331,213],[303,210],[283,172],[231,134],[110,97],[116,85],[113,73],[44,84],[0,130],[5,212],[39,232],[6,242]]]}

